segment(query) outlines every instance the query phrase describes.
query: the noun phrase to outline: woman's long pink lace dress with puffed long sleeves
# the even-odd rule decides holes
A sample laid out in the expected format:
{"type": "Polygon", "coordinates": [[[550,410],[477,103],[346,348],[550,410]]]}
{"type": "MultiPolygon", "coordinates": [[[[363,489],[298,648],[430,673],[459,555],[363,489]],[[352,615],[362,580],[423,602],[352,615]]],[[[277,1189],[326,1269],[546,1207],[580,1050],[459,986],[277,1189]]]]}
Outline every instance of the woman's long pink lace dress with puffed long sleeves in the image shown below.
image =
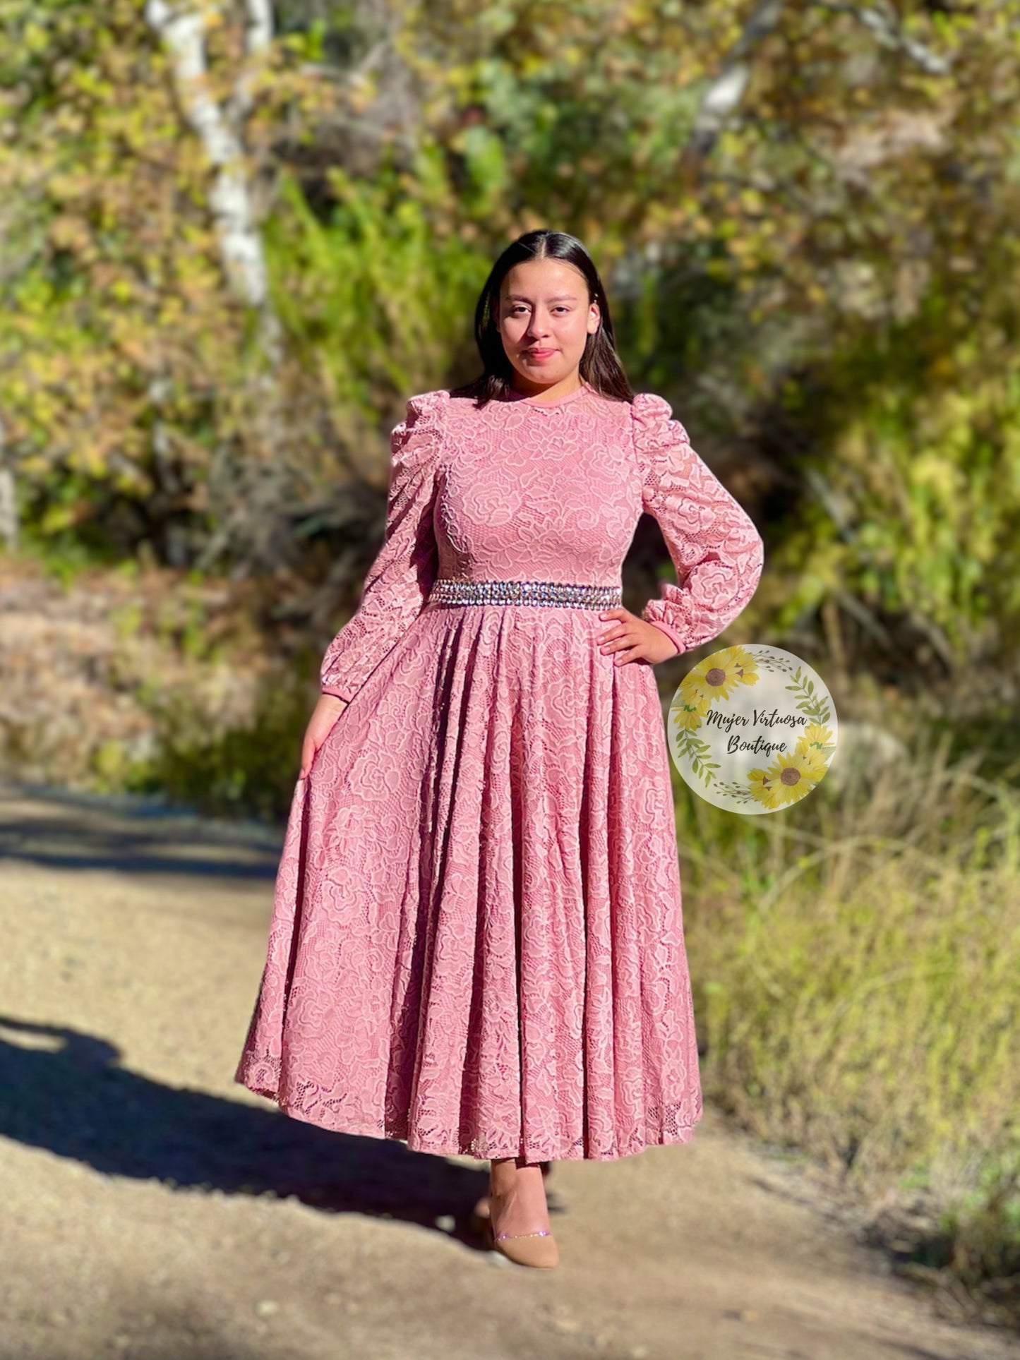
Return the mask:
{"type": "Polygon", "coordinates": [[[643,510],[677,573],[643,617],[681,651],[758,585],[748,514],[658,396],[476,409],[412,397],[384,545],[322,688],[235,1080],[288,1115],[479,1159],[613,1159],[702,1115],[669,752],[653,668],[578,602],[643,510]],[[468,583],[466,600],[437,582],[468,583]]]}

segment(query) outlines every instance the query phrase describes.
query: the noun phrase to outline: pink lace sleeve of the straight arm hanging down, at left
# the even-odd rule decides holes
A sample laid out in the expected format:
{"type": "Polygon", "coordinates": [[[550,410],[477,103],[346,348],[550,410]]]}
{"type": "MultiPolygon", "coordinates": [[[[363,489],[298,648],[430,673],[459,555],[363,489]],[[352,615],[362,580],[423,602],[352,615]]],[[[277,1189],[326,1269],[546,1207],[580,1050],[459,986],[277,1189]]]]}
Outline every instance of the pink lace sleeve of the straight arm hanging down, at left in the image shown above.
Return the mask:
{"type": "Polygon", "coordinates": [[[437,574],[432,509],[447,401],[445,389],[411,397],[405,419],[390,435],[382,548],[356,612],[322,658],[322,694],[350,700],[424,608],[437,574]]]}

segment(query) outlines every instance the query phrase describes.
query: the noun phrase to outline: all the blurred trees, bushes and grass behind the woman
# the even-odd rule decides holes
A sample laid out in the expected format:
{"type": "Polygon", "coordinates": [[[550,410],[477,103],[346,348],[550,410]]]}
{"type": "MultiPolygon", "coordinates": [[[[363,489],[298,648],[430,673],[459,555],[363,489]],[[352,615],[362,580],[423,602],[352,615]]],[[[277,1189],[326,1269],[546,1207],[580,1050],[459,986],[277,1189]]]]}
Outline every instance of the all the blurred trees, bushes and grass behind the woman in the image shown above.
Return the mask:
{"type": "MultiPolygon", "coordinates": [[[[753,827],[677,785],[706,1088],[1016,1319],[1020,4],[0,14],[3,770],[282,817],[389,430],[575,233],[860,758],[753,827]]],[[[642,521],[631,608],[666,568],[642,521]]]]}

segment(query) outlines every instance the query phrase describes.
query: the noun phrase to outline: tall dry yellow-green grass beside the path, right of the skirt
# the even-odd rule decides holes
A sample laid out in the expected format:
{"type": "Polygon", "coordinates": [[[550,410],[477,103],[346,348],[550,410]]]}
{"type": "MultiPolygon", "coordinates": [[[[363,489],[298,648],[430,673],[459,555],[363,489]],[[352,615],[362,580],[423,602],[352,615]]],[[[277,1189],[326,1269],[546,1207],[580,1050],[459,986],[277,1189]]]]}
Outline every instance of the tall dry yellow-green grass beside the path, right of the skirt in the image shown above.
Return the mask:
{"type": "Polygon", "coordinates": [[[1020,797],[945,753],[748,828],[683,800],[685,919],[706,1092],[926,1187],[976,1277],[1020,1263],[1020,797]]]}

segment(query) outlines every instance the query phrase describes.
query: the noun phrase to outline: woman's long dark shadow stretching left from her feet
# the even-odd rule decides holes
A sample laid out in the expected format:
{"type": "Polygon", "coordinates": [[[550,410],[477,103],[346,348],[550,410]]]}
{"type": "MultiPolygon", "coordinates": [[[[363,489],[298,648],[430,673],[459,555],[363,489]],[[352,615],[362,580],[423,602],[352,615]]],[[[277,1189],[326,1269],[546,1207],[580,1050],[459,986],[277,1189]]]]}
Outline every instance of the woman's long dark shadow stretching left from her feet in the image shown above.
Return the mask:
{"type": "Polygon", "coordinates": [[[469,1223],[487,1170],[166,1087],[118,1058],[92,1035],[0,1015],[0,1136],[106,1175],[296,1195],[316,1209],[401,1219],[483,1246],[469,1223]]]}

